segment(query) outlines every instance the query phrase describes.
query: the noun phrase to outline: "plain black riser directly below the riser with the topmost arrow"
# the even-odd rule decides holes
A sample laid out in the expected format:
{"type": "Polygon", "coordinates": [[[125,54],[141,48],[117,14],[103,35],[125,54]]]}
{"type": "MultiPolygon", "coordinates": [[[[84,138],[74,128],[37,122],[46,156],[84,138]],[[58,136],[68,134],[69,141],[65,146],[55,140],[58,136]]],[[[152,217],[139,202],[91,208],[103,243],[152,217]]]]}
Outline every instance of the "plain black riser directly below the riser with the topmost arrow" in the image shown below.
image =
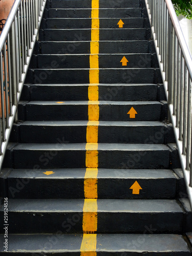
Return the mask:
{"type": "MultiPolygon", "coordinates": [[[[46,41],[91,41],[91,29],[45,29],[46,41]]],[[[100,29],[99,40],[146,40],[146,29],[100,29]]]]}

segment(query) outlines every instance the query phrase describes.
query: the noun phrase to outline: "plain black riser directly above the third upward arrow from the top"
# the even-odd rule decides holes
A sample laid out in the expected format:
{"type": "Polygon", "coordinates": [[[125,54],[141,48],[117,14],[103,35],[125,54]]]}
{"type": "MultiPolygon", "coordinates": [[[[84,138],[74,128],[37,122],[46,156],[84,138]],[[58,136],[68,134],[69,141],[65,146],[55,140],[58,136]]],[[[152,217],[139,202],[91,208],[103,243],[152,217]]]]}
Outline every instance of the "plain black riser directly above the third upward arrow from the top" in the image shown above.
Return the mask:
{"type": "MultiPolygon", "coordinates": [[[[53,86],[47,85],[31,85],[27,88],[24,86],[25,92],[23,97],[28,100],[89,100],[88,84],[84,85],[68,85],[53,86]],[[61,97],[62,96],[62,97],[61,97]]],[[[150,85],[105,85],[98,86],[99,100],[113,101],[154,101],[157,100],[158,89],[155,84],[150,85]]]]}

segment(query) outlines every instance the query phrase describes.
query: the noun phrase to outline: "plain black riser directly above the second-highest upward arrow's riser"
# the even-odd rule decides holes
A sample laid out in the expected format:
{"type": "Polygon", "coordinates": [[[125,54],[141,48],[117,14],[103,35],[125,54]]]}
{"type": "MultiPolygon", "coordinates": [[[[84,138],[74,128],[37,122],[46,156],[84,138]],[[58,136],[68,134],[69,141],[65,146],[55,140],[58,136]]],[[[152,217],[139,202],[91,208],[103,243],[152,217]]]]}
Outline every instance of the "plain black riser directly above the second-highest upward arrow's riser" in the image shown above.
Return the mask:
{"type": "MultiPolygon", "coordinates": [[[[75,41],[41,41],[42,54],[89,54],[90,41],[82,41],[77,34],[75,41]]],[[[148,53],[147,40],[99,41],[100,54],[148,53]]]]}

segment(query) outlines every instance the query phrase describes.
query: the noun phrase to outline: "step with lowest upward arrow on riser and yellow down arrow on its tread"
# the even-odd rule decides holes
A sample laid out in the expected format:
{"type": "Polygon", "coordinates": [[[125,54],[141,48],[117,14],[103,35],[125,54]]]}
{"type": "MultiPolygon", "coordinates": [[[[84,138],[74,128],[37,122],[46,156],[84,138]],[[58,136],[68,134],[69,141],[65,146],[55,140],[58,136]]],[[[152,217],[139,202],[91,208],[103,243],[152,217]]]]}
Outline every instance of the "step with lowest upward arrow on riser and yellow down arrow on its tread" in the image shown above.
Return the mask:
{"type": "MultiPolygon", "coordinates": [[[[82,199],[86,169],[3,169],[9,199],[82,199]],[[6,178],[5,178],[6,177],[6,178]]],[[[168,169],[98,169],[99,199],[174,199],[179,180],[168,169]],[[139,194],[130,189],[135,182],[139,194]]]]}

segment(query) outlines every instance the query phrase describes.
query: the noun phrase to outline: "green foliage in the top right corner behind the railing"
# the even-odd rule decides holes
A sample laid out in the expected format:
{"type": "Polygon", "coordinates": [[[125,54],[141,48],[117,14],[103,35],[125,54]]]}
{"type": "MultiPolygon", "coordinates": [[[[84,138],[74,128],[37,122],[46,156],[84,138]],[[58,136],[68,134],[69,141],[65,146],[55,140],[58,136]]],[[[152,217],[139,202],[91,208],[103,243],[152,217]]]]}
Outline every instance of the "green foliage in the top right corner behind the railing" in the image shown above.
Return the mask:
{"type": "Polygon", "coordinates": [[[192,18],[192,0],[172,0],[177,15],[183,15],[184,17],[192,18]]]}

